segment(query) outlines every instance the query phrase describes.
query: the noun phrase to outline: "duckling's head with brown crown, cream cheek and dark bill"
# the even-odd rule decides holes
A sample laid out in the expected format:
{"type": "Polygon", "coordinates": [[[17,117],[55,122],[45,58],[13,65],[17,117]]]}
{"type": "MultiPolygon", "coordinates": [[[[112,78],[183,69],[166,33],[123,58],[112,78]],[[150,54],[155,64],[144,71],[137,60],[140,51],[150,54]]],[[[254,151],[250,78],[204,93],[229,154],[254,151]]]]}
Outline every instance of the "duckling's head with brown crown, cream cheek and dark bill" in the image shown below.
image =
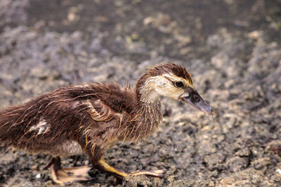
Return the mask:
{"type": "Polygon", "coordinates": [[[154,102],[162,95],[191,104],[204,113],[214,113],[193,86],[190,73],[178,64],[152,67],[138,80],[136,90],[143,102],[154,102]]]}

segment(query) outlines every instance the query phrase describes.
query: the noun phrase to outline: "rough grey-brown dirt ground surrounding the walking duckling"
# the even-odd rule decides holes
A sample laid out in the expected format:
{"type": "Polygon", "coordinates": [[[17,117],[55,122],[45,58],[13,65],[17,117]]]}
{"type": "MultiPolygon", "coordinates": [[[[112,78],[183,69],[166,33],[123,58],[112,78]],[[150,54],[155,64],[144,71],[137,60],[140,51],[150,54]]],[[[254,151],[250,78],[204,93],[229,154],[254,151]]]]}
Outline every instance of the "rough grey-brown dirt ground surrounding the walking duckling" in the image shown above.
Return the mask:
{"type": "MultiPolygon", "coordinates": [[[[119,180],[70,186],[280,186],[281,1],[1,0],[0,107],[81,81],[133,84],[158,62],[186,67],[216,115],[162,99],[159,132],[116,145],[119,180]]],[[[56,186],[48,155],[0,148],[0,186],[56,186]]],[[[85,156],[63,165],[89,165],[85,156]]]]}

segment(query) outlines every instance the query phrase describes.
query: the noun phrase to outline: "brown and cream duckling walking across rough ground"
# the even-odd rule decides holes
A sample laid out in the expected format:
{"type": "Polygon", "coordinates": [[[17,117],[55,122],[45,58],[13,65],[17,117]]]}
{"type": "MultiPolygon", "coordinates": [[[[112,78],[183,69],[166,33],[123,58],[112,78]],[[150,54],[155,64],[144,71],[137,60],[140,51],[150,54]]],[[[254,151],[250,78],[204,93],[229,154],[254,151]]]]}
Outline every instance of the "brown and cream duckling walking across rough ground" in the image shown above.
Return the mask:
{"type": "Polygon", "coordinates": [[[198,94],[190,73],[174,63],[157,64],[136,85],[79,83],[0,110],[0,144],[32,154],[51,155],[55,183],[89,181],[91,168],[121,178],[164,176],[165,170],[124,172],[103,158],[117,142],[138,142],[162,122],[161,97],[188,103],[204,113],[214,109],[198,94]],[[62,167],[60,157],[86,155],[91,165],[62,167]]]}

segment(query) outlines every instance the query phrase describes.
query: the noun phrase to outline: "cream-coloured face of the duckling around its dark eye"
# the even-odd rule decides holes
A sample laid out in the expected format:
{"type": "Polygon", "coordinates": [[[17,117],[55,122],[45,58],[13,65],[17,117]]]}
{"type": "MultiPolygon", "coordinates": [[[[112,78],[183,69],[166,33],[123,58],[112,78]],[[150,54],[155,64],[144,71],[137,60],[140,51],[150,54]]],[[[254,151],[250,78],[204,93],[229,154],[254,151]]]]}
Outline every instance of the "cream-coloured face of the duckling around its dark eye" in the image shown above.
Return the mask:
{"type": "Polygon", "coordinates": [[[188,86],[193,88],[193,85],[188,80],[174,74],[163,74],[155,79],[155,90],[159,95],[176,100],[183,96],[185,88],[188,88],[188,86]]]}

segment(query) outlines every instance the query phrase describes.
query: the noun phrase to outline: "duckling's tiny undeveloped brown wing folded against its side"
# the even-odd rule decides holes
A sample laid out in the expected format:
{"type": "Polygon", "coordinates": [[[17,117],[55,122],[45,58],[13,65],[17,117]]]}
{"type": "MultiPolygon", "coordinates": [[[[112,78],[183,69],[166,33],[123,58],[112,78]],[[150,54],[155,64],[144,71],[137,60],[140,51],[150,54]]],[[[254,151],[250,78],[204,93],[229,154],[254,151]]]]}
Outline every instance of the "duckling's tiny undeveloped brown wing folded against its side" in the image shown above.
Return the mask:
{"type": "Polygon", "coordinates": [[[109,121],[115,116],[115,111],[110,109],[110,106],[104,104],[100,99],[87,100],[85,103],[89,110],[87,111],[93,120],[96,121],[109,121]]]}

